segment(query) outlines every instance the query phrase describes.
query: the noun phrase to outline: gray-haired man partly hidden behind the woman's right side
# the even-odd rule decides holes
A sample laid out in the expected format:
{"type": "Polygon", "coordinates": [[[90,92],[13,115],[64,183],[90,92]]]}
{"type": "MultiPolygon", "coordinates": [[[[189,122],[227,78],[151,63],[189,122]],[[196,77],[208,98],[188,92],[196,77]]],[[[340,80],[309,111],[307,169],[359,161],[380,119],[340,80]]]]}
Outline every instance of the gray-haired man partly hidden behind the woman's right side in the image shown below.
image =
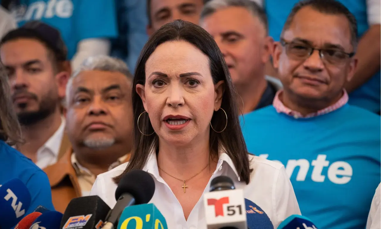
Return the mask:
{"type": "Polygon", "coordinates": [[[281,84],[265,77],[273,41],[262,8],[251,0],[211,0],[201,12],[200,25],[221,49],[241,97],[240,110],[245,114],[271,105],[281,84]]]}

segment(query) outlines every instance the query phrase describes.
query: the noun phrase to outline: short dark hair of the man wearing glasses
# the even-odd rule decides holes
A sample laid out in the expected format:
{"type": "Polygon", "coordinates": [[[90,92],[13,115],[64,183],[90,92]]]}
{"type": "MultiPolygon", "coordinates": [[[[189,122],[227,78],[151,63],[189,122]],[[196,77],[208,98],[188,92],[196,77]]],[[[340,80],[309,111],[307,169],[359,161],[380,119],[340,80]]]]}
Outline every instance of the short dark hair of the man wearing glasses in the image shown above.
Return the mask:
{"type": "Polygon", "coordinates": [[[336,0],[303,0],[295,4],[291,13],[288,15],[287,20],[283,26],[280,37],[283,37],[283,33],[290,28],[290,25],[302,8],[309,6],[312,9],[324,14],[344,15],[349,22],[349,29],[351,30],[351,43],[353,49],[357,48],[357,21],[355,16],[340,2],[336,0]]]}

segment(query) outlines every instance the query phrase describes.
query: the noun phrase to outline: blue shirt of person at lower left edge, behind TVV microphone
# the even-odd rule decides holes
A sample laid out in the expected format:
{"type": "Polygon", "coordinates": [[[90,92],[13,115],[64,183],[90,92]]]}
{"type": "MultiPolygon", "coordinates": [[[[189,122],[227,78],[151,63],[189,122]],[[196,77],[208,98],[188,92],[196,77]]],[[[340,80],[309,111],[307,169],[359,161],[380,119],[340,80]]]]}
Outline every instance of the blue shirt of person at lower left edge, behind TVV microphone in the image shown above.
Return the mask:
{"type": "Polygon", "coordinates": [[[38,205],[54,210],[48,176],[30,159],[0,140],[0,184],[11,179],[20,179],[31,196],[30,207],[25,213],[33,212],[38,205]]]}

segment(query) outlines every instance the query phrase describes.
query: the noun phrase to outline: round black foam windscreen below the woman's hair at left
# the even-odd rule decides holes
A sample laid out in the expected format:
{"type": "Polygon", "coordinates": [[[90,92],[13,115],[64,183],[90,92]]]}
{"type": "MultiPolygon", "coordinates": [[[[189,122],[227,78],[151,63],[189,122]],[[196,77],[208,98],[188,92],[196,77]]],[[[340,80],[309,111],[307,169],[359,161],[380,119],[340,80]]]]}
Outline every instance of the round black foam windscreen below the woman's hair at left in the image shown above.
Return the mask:
{"type": "Polygon", "coordinates": [[[143,170],[132,170],[122,177],[115,191],[115,199],[128,193],[135,199],[135,204],[147,204],[154,196],[155,181],[143,170]]]}

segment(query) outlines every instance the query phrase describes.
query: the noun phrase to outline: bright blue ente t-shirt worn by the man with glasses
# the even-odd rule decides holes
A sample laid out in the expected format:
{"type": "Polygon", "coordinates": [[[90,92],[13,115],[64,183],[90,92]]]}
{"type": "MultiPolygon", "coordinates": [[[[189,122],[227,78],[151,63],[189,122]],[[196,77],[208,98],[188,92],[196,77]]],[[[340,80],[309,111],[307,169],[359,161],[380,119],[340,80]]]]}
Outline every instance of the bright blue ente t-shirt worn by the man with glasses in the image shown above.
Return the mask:
{"type": "Polygon", "coordinates": [[[365,228],[380,183],[380,117],[344,105],[295,119],[269,106],[243,116],[248,151],[280,161],[302,215],[318,228],[365,228]]]}

